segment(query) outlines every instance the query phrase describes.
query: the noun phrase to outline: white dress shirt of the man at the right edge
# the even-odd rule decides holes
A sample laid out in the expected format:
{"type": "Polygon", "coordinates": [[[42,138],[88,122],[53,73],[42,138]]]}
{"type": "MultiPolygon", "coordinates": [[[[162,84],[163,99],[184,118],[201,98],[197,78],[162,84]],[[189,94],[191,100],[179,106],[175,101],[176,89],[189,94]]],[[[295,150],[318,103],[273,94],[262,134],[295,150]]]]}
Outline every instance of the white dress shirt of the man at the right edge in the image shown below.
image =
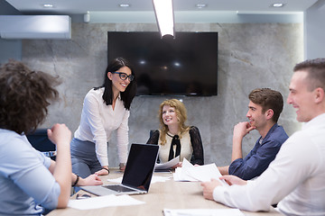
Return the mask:
{"type": "Polygon", "coordinates": [[[246,185],[218,186],[213,198],[246,211],[279,202],[286,215],[325,215],[325,113],[287,139],[262,175],[246,185]]]}

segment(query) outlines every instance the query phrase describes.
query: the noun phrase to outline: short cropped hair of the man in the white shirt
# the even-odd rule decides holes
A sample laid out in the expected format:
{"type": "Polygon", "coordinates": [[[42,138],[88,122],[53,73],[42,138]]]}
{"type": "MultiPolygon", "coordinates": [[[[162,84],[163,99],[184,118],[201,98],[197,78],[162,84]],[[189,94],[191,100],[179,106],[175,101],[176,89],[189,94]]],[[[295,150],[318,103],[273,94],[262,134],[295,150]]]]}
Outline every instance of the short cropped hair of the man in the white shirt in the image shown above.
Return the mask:
{"type": "Polygon", "coordinates": [[[293,67],[293,72],[304,70],[308,73],[308,88],[313,91],[321,87],[325,91],[325,58],[305,60],[293,67]]]}

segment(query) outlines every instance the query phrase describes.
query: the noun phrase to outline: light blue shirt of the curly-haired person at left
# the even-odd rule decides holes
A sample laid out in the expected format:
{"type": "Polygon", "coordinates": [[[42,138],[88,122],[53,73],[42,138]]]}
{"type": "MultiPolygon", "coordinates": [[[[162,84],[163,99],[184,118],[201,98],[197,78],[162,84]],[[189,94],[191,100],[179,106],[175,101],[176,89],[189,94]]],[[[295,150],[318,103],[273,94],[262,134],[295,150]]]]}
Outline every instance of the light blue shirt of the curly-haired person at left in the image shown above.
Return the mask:
{"type": "Polygon", "coordinates": [[[55,209],[60,184],[51,159],[32,148],[25,135],[0,129],[0,215],[41,215],[55,209]]]}

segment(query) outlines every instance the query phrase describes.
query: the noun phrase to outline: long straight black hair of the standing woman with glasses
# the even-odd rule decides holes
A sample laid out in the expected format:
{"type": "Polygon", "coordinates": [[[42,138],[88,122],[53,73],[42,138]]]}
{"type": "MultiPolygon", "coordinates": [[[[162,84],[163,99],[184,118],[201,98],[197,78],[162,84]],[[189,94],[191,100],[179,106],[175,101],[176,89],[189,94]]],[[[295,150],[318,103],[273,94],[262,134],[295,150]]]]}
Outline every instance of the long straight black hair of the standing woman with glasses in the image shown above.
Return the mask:
{"type": "MultiPolygon", "coordinates": [[[[131,74],[135,76],[135,71],[131,67],[131,65],[125,60],[125,58],[115,58],[112,61],[108,63],[105,77],[104,77],[104,84],[95,87],[95,90],[98,90],[100,87],[104,87],[104,94],[103,94],[103,100],[107,105],[111,105],[113,103],[113,90],[112,90],[112,80],[110,80],[107,76],[108,72],[116,72],[121,67],[129,67],[131,70],[131,74]]],[[[132,100],[135,98],[136,94],[136,78],[130,82],[129,85],[127,85],[124,92],[121,92],[121,99],[124,103],[125,109],[130,110],[130,106],[132,103],[132,100]]]]}

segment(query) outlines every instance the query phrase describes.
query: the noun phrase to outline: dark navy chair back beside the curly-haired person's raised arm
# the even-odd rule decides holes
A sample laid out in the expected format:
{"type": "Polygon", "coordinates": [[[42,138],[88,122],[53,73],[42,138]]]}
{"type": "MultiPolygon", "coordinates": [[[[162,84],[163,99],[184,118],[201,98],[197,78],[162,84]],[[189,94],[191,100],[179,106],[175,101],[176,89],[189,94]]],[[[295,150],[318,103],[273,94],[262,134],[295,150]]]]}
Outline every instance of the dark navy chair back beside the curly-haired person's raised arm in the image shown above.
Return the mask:
{"type": "Polygon", "coordinates": [[[47,129],[37,129],[26,134],[26,137],[33,148],[41,151],[45,156],[55,159],[56,148],[47,136],[47,129]]]}

